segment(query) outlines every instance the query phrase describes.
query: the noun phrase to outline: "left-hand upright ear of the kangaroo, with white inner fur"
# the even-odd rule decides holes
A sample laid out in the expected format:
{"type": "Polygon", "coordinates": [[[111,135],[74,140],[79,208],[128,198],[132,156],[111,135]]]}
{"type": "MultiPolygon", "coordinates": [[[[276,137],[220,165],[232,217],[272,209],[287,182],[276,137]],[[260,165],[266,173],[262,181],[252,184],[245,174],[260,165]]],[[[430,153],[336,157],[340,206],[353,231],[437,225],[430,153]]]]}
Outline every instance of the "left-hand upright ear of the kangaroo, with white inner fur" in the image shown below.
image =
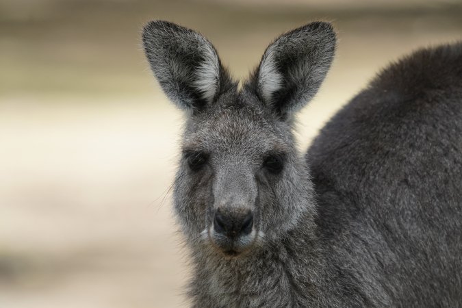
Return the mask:
{"type": "Polygon", "coordinates": [[[151,21],[143,29],[142,40],[157,81],[177,106],[201,110],[233,86],[214,46],[196,31],[151,21]]]}

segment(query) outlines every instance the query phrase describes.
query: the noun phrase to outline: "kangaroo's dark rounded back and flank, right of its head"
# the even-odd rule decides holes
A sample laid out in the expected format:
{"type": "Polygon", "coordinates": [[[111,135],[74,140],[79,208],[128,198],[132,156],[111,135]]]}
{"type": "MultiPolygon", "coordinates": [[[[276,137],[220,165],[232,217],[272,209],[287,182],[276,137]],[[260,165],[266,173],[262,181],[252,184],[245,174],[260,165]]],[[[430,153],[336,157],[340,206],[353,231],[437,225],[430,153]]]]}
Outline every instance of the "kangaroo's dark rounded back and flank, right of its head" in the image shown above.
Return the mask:
{"type": "Polygon", "coordinates": [[[462,42],[383,70],[322,129],[307,162],[322,245],[365,298],[461,305],[462,42]]]}

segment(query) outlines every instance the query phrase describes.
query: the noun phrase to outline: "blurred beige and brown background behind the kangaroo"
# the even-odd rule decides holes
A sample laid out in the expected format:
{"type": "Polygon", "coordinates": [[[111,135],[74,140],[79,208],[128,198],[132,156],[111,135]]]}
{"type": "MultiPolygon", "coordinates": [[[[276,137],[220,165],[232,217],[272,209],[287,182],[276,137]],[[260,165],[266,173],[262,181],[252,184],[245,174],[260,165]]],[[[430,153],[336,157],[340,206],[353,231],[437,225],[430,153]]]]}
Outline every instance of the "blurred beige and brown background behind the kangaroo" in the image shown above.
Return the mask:
{"type": "Polygon", "coordinates": [[[140,47],[155,18],[201,31],[236,78],[283,31],[332,21],[300,149],[388,62],[462,39],[455,0],[0,0],[1,308],[185,306],[168,190],[182,115],[140,47]]]}

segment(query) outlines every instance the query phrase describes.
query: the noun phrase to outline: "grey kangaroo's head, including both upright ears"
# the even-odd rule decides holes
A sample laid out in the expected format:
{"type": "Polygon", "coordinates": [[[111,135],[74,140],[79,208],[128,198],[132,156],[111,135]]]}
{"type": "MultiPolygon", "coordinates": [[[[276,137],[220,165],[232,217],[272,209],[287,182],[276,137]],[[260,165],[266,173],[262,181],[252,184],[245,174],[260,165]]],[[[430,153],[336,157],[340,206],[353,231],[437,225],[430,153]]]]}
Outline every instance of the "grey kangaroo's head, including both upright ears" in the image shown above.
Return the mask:
{"type": "Polygon", "coordinates": [[[142,39],[160,86],[187,114],[174,201],[193,249],[245,255],[301,219],[312,225],[309,170],[292,124],[331,65],[331,25],[309,23],[274,40],[241,90],[196,31],[153,21],[142,39]]]}

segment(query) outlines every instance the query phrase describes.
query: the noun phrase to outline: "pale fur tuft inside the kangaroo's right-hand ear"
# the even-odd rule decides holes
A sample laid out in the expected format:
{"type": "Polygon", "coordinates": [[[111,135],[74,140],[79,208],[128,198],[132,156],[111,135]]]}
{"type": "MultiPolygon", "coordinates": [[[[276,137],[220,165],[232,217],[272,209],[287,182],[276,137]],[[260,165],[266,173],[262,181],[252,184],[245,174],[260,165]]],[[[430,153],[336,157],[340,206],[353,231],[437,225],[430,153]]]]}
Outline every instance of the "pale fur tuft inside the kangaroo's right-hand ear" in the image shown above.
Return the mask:
{"type": "Polygon", "coordinates": [[[266,51],[258,72],[258,84],[261,89],[261,95],[268,102],[271,101],[272,94],[281,88],[283,81],[283,77],[276,67],[273,49],[274,47],[270,47],[266,51]]]}

